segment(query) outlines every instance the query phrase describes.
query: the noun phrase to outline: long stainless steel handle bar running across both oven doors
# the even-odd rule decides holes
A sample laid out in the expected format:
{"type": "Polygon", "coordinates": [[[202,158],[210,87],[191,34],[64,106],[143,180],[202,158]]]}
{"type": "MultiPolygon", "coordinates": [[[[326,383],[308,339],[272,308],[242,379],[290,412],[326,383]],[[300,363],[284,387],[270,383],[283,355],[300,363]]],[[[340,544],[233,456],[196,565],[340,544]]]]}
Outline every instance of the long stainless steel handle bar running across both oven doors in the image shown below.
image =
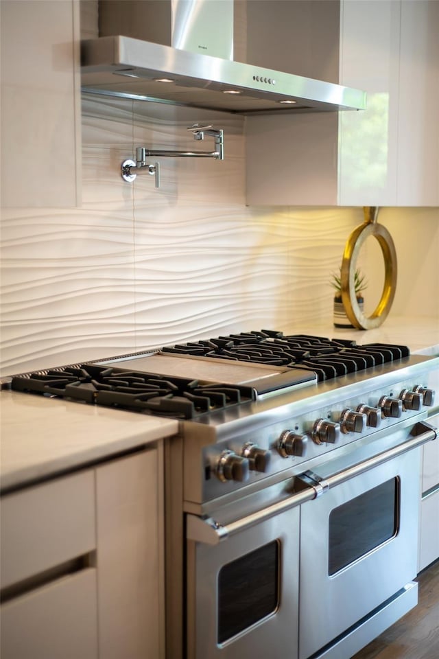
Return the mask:
{"type": "MultiPolygon", "coordinates": [[[[323,492],[327,492],[331,487],[335,485],[340,485],[345,481],[348,481],[350,478],[359,476],[364,472],[377,467],[388,460],[392,460],[407,451],[414,450],[418,446],[422,446],[436,439],[438,436],[438,428],[431,426],[426,421],[419,421],[411,431],[412,439],[405,441],[403,444],[399,444],[395,448],[379,453],[372,458],[365,460],[353,467],[348,467],[348,469],[329,476],[328,478],[320,478],[312,472],[305,472],[302,474],[304,476],[302,484],[305,485],[305,489],[302,489],[300,492],[295,492],[292,496],[289,496],[282,501],[276,502],[262,510],[250,513],[250,515],[243,517],[235,522],[229,522],[226,525],[219,524],[215,522],[212,518],[201,518],[196,515],[188,514],[186,516],[186,537],[187,540],[195,540],[195,542],[203,542],[204,544],[219,544],[222,540],[231,535],[245,531],[250,527],[253,527],[255,524],[260,524],[265,522],[265,520],[283,513],[291,508],[294,508],[305,501],[315,499],[320,496],[323,492]]],[[[300,476],[298,476],[300,479],[300,476]]]]}

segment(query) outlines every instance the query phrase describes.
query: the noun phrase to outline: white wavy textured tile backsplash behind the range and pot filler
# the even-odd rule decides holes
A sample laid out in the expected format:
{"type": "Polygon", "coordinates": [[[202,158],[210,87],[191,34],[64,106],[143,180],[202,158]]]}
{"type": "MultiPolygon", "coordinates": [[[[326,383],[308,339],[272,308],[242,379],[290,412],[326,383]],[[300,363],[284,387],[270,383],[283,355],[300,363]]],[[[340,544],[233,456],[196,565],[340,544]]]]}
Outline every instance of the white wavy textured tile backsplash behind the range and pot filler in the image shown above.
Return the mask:
{"type": "MultiPolygon", "coordinates": [[[[329,278],[363,211],[246,207],[243,127],[222,113],[84,97],[82,207],[2,213],[3,375],[225,332],[300,332],[332,315],[329,278]],[[224,128],[223,162],[163,158],[158,190],[147,174],[122,181],[135,146],[210,150],[187,133],[196,121],[224,128]]],[[[403,282],[436,276],[436,290],[437,212],[381,214],[409,254],[403,282]],[[407,251],[415,217],[427,259],[407,251]]],[[[427,293],[412,288],[392,312],[419,312],[427,293]]],[[[425,315],[439,318],[437,301],[425,315]]]]}

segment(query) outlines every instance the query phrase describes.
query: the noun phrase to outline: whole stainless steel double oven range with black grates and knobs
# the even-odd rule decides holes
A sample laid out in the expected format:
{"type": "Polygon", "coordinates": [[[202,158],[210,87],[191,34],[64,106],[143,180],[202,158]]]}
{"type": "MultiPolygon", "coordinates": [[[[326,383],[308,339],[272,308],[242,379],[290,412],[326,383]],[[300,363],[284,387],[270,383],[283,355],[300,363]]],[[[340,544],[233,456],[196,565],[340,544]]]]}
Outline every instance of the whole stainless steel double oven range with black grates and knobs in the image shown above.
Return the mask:
{"type": "Polygon", "coordinates": [[[180,419],[167,440],[167,656],[348,659],[417,602],[439,358],[250,332],[12,378],[180,419]]]}

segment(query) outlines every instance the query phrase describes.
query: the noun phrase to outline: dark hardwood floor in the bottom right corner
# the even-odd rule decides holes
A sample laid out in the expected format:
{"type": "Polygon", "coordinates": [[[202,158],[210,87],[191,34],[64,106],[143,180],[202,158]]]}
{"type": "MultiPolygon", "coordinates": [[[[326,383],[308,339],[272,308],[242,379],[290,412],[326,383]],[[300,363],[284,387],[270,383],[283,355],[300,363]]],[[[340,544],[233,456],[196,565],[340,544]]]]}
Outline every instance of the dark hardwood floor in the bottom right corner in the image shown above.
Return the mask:
{"type": "Polygon", "coordinates": [[[418,605],[352,659],[439,659],[439,560],[416,581],[418,605]]]}

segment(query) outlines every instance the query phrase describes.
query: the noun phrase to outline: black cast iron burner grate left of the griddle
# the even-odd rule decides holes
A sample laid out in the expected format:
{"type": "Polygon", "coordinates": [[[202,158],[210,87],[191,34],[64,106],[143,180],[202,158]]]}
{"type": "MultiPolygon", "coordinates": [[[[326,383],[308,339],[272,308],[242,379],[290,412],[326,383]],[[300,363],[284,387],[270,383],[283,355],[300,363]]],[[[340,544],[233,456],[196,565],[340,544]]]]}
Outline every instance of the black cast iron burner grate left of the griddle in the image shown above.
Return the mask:
{"type": "Polygon", "coordinates": [[[200,384],[93,364],[16,375],[11,388],[177,419],[192,419],[255,398],[250,386],[200,384]]]}

